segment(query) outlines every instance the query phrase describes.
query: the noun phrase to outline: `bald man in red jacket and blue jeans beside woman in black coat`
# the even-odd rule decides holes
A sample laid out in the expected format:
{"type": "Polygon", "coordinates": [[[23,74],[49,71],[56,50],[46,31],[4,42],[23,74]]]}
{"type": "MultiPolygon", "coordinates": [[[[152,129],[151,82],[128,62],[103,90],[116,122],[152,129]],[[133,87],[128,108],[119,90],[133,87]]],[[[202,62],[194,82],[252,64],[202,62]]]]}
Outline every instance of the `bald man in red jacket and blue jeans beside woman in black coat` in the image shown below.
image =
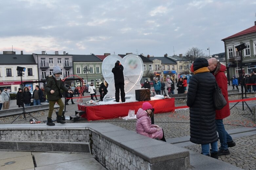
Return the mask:
{"type": "Polygon", "coordinates": [[[224,73],[226,67],[222,65],[216,58],[208,59],[208,69],[215,76],[216,82],[221,88],[222,94],[227,101],[225,107],[221,110],[216,110],[215,123],[216,129],[219,134],[221,147],[218,151],[218,155],[229,155],[228,147],[234,147],[236,143],[233,141],[232,137],[226,132],[223,119],[230,115],[229,104],[228,104],[228,95],[227,95],[227,78],[224,73]]]}

